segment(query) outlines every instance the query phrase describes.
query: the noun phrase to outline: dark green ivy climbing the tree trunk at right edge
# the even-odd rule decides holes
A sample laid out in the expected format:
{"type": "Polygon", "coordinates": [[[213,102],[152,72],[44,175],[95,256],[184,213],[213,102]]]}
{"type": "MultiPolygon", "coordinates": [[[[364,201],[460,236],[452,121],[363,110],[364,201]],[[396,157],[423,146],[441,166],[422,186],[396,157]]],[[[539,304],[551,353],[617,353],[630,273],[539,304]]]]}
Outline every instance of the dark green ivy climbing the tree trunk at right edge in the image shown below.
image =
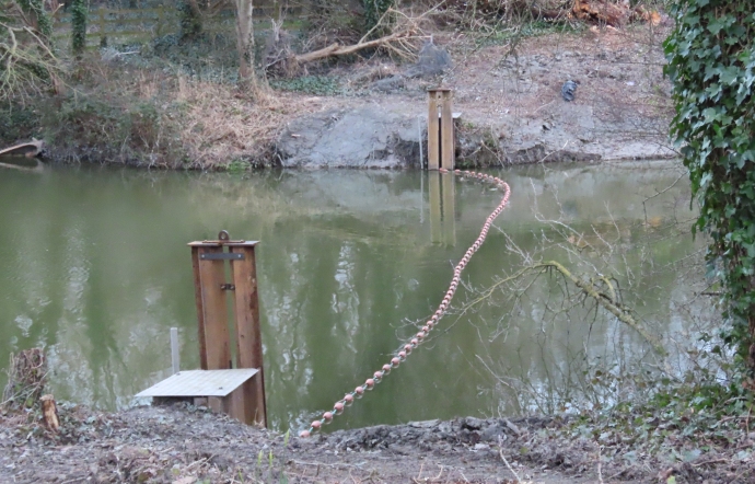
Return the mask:
{"type": "Polygon", "coordinates": [[[755,2],[680,0],[664,43],[682,147],[724,290],[724,342],[755,374],[755,2]]]}

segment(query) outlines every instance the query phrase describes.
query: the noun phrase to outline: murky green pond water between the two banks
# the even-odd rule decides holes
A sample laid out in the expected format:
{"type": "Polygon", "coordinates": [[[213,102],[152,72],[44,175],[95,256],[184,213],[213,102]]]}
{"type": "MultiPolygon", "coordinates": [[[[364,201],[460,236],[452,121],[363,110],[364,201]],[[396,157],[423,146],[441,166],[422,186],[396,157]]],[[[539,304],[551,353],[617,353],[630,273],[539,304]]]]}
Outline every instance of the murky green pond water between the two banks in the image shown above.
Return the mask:
{"type": "MultiPolygon", "coordinates": [[[[566,380],[556,374],[570,361],[647,352],[626,325],[595,322],[590,304],[578,308],[581,315],[564,311],[560,322],[547,316],[559,312],[553,301],[562,292],[553,276],[537,278],[539,286],[513,306],[502,296],[481,298],[527,254],[560,257],[570,267],[585,264],[574,262],[580,255],[588,266],[615,264],[624,302],[652,320],[653,331],[685,330],[686,313],[670,301],[689,295],[681,272],[690,269],[657,270],[700,249],[685,233],[689,186],[677,166],[490,173],[510,183],[511,205],[467,266],[454,314],[332,428],[528,412],[537,408],[512,392],[558,393],[566,380]],[[603,243],[595,240],[609,251],[595,250],[603,243]]],[[[123,408],[170,374],[173,326],[182,368],[197,368],[186,244],[224,229],[234,239],[260,241],[268,418],[276,429],[301,429],[386,362],[434,312],[453,265],[500,200],[489,186],[438,176],[2,170],[0,369],[12,352],[45,347],[57,400],[123,408]],[[442,210],[435,208],[439,185],[442,210]]]]}

